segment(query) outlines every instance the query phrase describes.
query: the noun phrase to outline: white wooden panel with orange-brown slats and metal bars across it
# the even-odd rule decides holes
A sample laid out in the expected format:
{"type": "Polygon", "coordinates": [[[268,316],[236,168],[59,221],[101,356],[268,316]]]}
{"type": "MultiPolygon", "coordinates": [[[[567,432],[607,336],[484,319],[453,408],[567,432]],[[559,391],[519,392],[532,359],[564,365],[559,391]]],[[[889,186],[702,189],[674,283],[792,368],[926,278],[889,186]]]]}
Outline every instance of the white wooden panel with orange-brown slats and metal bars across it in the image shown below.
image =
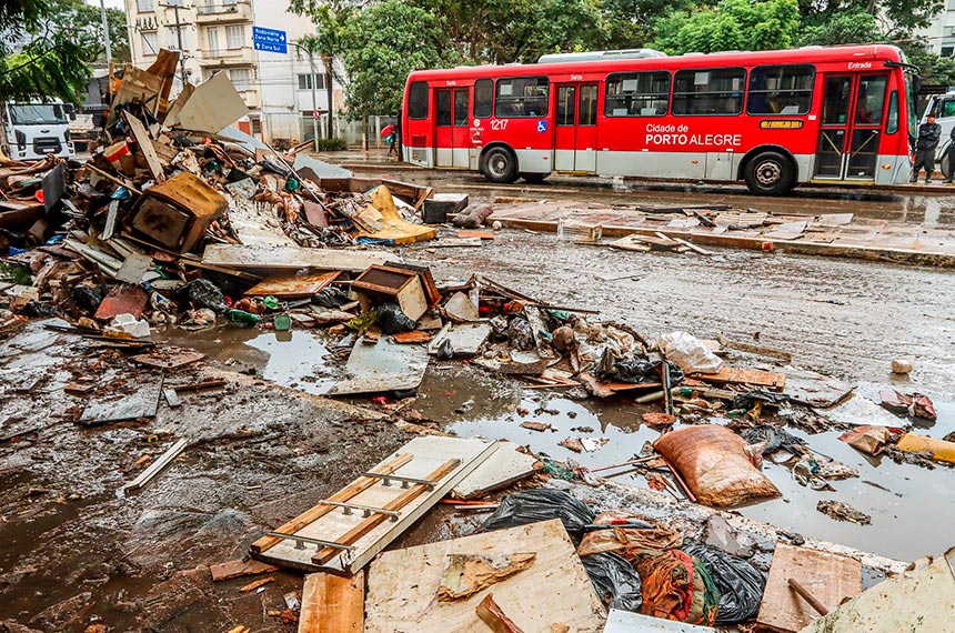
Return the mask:
{"type": "Polygon", "coordinates": [[[388,475],[360,476],[342,491],[345,494],[323,500],[332,503],[320,502],[303,513],[302,520],[294,519],[279,529],[278,534],[283,536],[271,533],[253,543],[252,556],[304,571],[353,574],[496,450],[495,443],[482,440],[416,438],[370,472],[386,472],[383,469],[402,455],[411,455],[410,460],[388,475]],[[424,484],[402,482],[402,478],[434,483],[432,490],[426,490],[424,484]],[[305,541],[296,542],[296,536],[305,541]],[[328,543],[342,547],[329,547],[328,543]]]}

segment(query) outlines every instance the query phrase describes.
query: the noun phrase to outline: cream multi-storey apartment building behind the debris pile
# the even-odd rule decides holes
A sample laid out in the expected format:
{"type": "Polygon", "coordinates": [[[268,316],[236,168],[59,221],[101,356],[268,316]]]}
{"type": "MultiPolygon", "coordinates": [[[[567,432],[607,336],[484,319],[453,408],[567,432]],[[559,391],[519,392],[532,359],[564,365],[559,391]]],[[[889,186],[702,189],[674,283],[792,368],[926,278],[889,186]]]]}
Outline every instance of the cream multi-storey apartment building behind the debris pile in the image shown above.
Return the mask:
{"type": "MultiPolygon", "coordinates": [[[[124,0],[133,64],[148,67],[160,49],[180,50],[187,81],[201,83],[225,72],[249,107],[238,125],[274,142],[312,137],[312,69],[295,42],[315,32],[308,18],[289,13],[288,0],[124,0]],[[255,50],[252,28],[284,31],[288,53],[255,50]]],[[[324,67],[315,66],[315,94],[324,137],[328,88],[324,67]]],[[[181,90],[181,79],[173,94],[181,90]]],[[[343,102],[333,91],[335,111],[343,102]]],[[[338,117],[336,117],[338,119],[338,117]]],[[[336,125],[338,128],[338,125],[336,125]]],[[[338,134],[336,134],[338,135],[338,134]]]]}

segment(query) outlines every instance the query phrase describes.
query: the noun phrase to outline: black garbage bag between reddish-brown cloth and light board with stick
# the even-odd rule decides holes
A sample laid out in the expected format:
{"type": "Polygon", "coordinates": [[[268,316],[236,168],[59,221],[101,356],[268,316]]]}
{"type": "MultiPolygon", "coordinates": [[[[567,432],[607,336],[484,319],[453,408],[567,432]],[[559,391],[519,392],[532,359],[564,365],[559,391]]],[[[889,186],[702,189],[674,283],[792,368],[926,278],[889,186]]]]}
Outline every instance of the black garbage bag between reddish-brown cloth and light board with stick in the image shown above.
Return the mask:
{"type": "Polygon", "coordinates": [[[763,572],[743,559],[702,543],[685,542],[681,550],[703,561],[720,590],[716,624],[735,624],[756,616],[766,590],[763,572]]]}

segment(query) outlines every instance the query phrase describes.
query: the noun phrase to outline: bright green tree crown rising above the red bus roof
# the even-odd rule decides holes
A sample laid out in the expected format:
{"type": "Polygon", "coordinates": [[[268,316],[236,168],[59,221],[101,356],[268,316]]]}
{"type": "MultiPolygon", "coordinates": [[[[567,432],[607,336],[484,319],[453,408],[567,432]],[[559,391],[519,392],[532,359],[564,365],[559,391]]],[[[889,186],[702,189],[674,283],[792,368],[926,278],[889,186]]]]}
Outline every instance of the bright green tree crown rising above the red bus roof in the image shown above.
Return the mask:
{"type": "Polygon", "coordinates": [[[654,23],[652,47],[668,54],[792,47],[800,31],[796,0],[722,0],[670,11],[654,23]]]}

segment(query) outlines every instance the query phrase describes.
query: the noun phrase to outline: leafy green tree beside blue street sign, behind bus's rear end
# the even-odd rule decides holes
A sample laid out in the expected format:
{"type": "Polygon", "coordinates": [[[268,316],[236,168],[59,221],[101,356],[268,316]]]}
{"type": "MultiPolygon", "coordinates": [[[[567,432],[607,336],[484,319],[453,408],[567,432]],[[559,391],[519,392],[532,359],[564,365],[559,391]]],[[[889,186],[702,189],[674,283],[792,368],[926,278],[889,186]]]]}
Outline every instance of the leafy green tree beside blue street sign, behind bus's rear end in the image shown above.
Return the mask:
{"type": "Polygon", "coordinates": [[[353,13],[341,37],[348,76],[345,109],[352,120],[398,114],[411,71],[460,61],[446,46],[442,21],[402,0],[353,13]]]}

